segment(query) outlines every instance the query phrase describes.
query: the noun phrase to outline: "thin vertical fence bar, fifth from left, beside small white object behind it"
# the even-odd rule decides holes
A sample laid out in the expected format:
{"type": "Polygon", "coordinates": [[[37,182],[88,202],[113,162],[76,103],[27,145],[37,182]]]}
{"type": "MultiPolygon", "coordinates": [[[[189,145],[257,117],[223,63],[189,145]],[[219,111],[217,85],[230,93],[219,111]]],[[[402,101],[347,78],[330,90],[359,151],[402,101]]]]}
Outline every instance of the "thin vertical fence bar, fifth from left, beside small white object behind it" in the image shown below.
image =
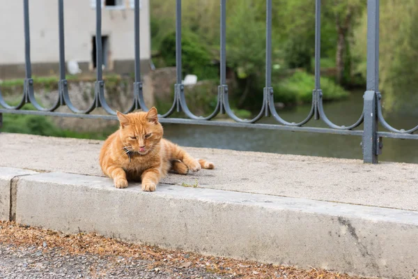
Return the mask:
{"type": "Polygon", "coordinates": [[[183,94],[182,65],[181,65],[181,0],[176,0],[176,85],[174,86],[174,97],[176,98],[177,112],[180,112],[180,96],[183,94]]]}

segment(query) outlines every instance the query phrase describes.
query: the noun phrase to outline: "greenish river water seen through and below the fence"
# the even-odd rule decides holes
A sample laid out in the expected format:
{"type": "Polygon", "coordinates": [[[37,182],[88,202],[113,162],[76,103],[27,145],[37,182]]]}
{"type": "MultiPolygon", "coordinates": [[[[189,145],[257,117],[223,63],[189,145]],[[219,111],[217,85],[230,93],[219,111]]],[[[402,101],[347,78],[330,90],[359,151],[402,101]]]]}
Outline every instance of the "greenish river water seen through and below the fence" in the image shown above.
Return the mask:
{"type": "MultiPolygon", "coordinates": [[[[337,125],[349,126],[362,113],[363,92],[353,92],[348,100],[324,105],[328,119],[337,125]]],[[[286,121],[301,121],[311,109],[310,105],[281,110],[279,115],[286,121]]],[[[418,124],[412,115],[388,115],[387,122],[398,129],[409,129],[418,124]]],[[[275,123],[267,119],[265,123],[275,123]]],[[[322,121],[311,120],[307,126],[326,127],[322,121]]],[[[359,127],[362,129],[362,126],[359,127]]],[[[383,130],[380,128],[380,130],[383,130]]],[[[233,149],[238,151],[261,151],[307,156],[362,159],[359,136],[328,135],[280,130],[227,128],[215,126],[164,126],[164,136],[183,146],[233,149]]],[[[417,140],[383,139],[380,161],[418,163],[417,140]]]]}

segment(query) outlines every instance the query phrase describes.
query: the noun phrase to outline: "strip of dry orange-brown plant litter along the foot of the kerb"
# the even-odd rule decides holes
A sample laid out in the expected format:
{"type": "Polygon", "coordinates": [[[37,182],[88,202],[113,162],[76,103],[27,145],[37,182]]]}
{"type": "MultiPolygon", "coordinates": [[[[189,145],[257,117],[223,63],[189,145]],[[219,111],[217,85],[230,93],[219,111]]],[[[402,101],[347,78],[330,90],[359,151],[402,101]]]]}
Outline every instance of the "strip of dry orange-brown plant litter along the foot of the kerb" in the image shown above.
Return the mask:
{"type": "Polygon", "coordinates": [[[58,249],[63,255],[93,254],[132,257],[152,262],[149,269],[204,268],[206,271],[234,278],[297,278],[297,279],[358,279],[346,274],[312,268],[309,271],[288,266],[274,266],[224,257],[208,257],[180,250],[164,250],[152,246],[130,244],[108,239],[98,234],[63,234],[49,229],[0,222],[0,243],[15,247],[36,246],[39,250],[58,249]]]}

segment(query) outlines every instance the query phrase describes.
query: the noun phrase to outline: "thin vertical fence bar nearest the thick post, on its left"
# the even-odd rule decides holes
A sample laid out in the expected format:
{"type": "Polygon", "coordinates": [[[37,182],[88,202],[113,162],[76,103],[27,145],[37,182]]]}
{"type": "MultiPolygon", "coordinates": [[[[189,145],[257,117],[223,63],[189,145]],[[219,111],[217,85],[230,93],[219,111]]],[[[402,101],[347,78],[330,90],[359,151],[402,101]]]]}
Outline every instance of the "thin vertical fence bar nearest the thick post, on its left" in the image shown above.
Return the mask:
{"type": "Polygon", "coordinates": [[[320,0],[315,1],[315,90],[312,94],[314,102],[314,119],[319,119],[318,102],[320,89],[320,0]]]}

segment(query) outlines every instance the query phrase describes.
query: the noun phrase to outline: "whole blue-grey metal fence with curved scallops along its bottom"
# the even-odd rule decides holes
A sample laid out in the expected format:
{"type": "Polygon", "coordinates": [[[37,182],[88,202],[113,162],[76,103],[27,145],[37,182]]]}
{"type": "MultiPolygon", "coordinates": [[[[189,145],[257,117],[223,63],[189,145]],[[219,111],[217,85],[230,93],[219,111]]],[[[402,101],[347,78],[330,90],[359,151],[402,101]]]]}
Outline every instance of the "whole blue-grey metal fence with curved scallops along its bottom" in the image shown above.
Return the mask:
{"type": "MultiPolygon", "coordinates": [[[[338,126],[327,118],[323,108],[323,91],[320,87],[320,0],[316,0],[316,40],[315,40],[315,88],[312,91],[311,111],[306,119],[299,123],[288,122],[279,116],[274,107],[272,87],[272,0],[266,0],[266,55],[265,55],[265,87],[263,89],[263,105],[261,111],[254,119],[240,119],[233,113],[229,105],[229,92],[226,85],[226,0],[220,1],[220,77],[217,93],[217,105],[215,111],[209,116],[196,116],[192,114],[185,99],[184,86],[182,84],[181,63],[181,0],[176,0],[176,84],[173,105],[165,114],[160,115],[162,123],[199,124],[211,126],[229,126],[241,128],[264,128],[274,130],[288,130],[311,133],[329,133],[339,135],[362,136],[362,152],[364,163],[378,163],[378,155],[382,152],[382,138],[391,137],[397,139],[417,140],[414,134],[418,126],[410,130],[398,130],[390,126],[382,116],[381,95],[379,84],[379,0],[367,1],[367,84],[364,93],[363,112],[359,119],[350,126],[338,126]],[[189,119],[169,118],[173,112],[183,111],[189,119]],[[217,114],[227,114],[234,122],[210,121],[217,114]],[[277,124],[256,123],[264,116],[270,116],[277,124]],[[314,128],[305,126],[311,119],[322,120],[329,128],[314,128]],[[378,124],[387,131],[378,131],[378,124]],[[363,125],[363,130],[359,126],[363,125]],[[357,130],[355,130],[357,128],[357,130]]],[[[116,119],[116,112],[109,107],[104,98],[104,81],[102,79],[102,7],[100,0],[96,0],[96,57],[97,78],[95,82],[95,96],[93,103],[87,110],[79,110],[72,105],[68,96],[68,83],[65,80],[65,47],[64,47],[64,10],[63,0],[59,2],[59,98],[52,107],[42,107],[37,103],[33,91],[33,79],[31,74],[31,43],[29,37],[29,0],[24,0],[24,37],[25,37],[25,65],[26,76],[24,80],[24,92],[19,105],[11,106],[6,103],[0,91],[0,121],[2,113],[11,114],[39,114],[47,116],[67,116],[81,118],[116,119]],[[36,110],[20,110],[25,104],[31,103],[36,110]],[[60,106],[67,106],[72,113],[55,112],[60,106]],[[97,107],[102,107],[107,115],[90,114],[97,107]]],[[[130,110],[148,110],[144,103],[144,95],[141,83],[141,71],[139,68],[139,0],[134,0],[134,45],[135,45],[135,74],[134,74],[134,98],[130,110]]],[[[146,93],[146,92],[145,92],[146,93]]],[[[325,92],[326,94],[326,92],[325,92]]]]}

